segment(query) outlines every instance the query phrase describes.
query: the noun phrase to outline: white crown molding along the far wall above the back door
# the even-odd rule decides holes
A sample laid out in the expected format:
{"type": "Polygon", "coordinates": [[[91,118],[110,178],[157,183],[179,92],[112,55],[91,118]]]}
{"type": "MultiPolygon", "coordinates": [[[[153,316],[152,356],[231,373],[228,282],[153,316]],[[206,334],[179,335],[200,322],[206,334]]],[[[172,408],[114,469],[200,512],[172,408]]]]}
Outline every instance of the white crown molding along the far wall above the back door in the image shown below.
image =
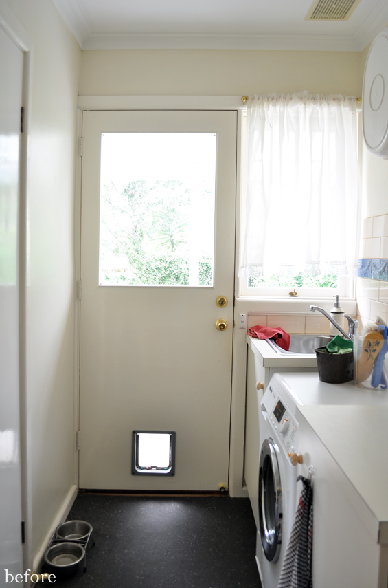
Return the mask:
{"type": "Polygon", "coordinates": [[[82,49],[359,51],[355,36],[245,34],[91,34],[82,49]]]}

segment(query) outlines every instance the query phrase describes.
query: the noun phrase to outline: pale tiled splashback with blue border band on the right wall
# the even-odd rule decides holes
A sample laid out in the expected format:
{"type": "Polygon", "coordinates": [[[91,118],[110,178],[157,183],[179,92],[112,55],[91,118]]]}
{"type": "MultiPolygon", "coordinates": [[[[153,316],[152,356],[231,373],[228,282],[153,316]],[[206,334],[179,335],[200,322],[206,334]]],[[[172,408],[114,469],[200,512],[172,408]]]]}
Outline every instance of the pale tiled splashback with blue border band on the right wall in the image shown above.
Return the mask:
{"type": "Polygon", "coordinates": [[[357,318],[361,323],[388,309],[388,215],[361,221],[361,248],[356,288],[357,318]]]}

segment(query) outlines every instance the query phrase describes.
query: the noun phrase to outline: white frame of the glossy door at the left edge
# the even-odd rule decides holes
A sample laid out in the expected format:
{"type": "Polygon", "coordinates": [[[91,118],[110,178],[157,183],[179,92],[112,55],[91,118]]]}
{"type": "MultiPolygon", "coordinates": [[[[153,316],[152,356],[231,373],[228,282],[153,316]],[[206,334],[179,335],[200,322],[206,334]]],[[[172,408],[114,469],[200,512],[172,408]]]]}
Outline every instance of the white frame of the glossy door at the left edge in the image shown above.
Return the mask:
{"type": "Polygon", "coordinates": [[[34,43],[23,25],[16,18],[5,0],[0,0],[0,27],[23,53],[22,104],[24,107],[23,133],[19,155],[19,404],[20,404],[20,452],[21,452],[21,514],[25,521],[23,544],[23,569],[30,563],[32,540],[32,488],[27,443],[27,365],[26,365],[26,301],[27,301],[27,197],[30,175],[30,113],[32,103],[32,61],[34,43]]]}

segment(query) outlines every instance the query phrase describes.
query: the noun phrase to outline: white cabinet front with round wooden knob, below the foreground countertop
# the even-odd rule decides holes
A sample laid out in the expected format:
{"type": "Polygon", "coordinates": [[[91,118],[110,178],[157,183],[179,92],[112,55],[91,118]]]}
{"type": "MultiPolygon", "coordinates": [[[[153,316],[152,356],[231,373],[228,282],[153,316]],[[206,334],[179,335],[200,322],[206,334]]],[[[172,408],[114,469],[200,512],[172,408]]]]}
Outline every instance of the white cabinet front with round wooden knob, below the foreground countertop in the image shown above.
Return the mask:
{"type": "MultiPolygon", "coordinates": [[[[380,545],[369,534],[350,500],[353,487],[300,413],[297,419],[298,453],[303,456],[303,464],[297,466],[298,474],[307,476],[308,468],[315,468],[312,585],[386,588],[387,579],[385,583],[378,579],[380,545]]],[[[297,501],[300,492],[301,482],[297,482],[297,501]]]]}

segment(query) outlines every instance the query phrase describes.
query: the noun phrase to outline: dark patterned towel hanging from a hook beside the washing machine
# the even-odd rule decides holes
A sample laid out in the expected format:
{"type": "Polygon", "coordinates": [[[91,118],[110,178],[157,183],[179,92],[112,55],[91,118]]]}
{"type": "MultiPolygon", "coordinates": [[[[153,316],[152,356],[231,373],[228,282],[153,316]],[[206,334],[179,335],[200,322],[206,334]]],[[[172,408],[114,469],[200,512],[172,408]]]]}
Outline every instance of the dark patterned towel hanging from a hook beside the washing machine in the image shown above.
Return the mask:
{"type": "Polygon", "coordinates": [[[303,488],[277,588],[312,588],[312,486],[303,476],[298,480],[303,488]]]}

